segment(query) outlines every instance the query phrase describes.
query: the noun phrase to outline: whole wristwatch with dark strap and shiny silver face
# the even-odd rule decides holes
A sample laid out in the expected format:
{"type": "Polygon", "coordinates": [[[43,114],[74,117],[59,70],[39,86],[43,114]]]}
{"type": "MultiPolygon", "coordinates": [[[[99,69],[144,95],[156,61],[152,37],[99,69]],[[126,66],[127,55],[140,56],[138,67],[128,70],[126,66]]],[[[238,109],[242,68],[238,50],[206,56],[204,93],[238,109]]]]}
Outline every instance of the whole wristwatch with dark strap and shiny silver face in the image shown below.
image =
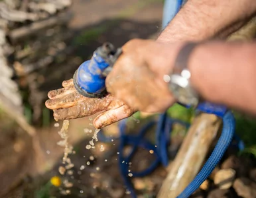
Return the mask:
{"type": "Polygon", "coordinates": [[[196,46],[198,44],[192,42],[182,46],[176,57],[171,74],[167,78],[164,77],[164,79],[168,79],[169,90],[178,103],[194,108],[198,106],[199,94],[190,82],[191,73],[188,69],[188,59],[196,46]]]}

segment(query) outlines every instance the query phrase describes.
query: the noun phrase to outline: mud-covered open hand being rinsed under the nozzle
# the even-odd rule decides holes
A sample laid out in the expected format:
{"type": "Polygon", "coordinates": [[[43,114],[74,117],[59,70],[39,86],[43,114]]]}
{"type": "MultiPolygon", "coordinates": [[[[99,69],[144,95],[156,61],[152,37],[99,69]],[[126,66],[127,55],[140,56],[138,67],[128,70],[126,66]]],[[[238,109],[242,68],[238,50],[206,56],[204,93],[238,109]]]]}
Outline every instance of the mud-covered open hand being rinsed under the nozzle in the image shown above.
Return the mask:
{"type": "Polygon", "coordinates": [[[73,80],[62,82],[63,88],[48,92],[45,105],[54,112],[54,119],[75,119],[92,116],[101,112],[94,119],[94,127],[100,129],[134,114],[129,106],[113,98],[110,94],[105,98],[86,98],[74,88],[73,80]]]}

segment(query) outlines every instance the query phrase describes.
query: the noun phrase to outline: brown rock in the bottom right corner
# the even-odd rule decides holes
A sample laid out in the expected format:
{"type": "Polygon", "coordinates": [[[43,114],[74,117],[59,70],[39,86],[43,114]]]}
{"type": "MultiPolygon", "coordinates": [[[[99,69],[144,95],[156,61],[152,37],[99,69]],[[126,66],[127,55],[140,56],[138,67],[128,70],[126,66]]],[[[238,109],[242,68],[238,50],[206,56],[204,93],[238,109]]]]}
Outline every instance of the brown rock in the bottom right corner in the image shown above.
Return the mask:
{"type": "Polygon", "coordinates": [[[237,178],[233,183],[237,195],[244,198],[256,198],[256,183],[247,178],[237,178]]]}

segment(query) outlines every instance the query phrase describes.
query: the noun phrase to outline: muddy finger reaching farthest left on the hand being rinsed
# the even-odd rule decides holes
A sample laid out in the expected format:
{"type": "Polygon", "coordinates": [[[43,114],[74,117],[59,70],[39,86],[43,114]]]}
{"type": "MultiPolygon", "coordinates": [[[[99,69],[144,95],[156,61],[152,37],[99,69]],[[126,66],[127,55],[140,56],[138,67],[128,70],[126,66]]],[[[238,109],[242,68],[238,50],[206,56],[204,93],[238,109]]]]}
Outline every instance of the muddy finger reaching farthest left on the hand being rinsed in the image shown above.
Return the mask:
{"type": "Polygon", "coordinates": [[[72,106],[76,106],[79,102],[82,102],[87,99],[89,98],[86,98],[81,94],[78,94],[78,92],[72,92],[72,94],[65,95],[62,98],[54,98],[52,100],[47,100],[45,102],[45,105],[50,110],[56,110],[60,108],[70,108],[72,106]]]}

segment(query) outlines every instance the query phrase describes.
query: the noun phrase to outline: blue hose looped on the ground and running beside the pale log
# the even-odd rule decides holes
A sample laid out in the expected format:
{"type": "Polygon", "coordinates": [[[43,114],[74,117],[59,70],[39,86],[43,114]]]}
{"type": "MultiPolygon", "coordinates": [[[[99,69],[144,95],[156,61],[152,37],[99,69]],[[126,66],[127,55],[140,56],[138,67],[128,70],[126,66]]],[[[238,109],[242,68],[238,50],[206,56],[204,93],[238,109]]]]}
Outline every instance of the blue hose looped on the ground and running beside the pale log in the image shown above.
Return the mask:
{"type": "MultiPolygon", "coordinates": [[[[135,198],[136,193],[133,189],[133,184],[131,183],[131,177],[143,177],[155,170],[159,164],[163,166],[168,165],[168,153],[167,147],[170,141],[170,132],[172,129],[172,125],[174,123],[180,123],[185,127],[189,127],[188,123],[184,123],[178,119],[172,119],[167,116],[167,113],[161,114],[159,116],[159,121],[150,121],[146,125],[142,127],[139,131],[138,135],[127,135],[125,134],[127,119],[123,119],[119,122],[119,155],[118,155],[118,163],[121,171],[121,176],[125,181],[125,187],[127,191],[131,193],[131,197],[135,198]],[[153,145],[147,139],[145,139],[145,134],[149,129],[151,129],[154,125],[157,125],[156,129],[156,145],[153,145]],[[124,156],[123,149],[125,146],[130,145],[132,147],[131,152],[124,156]],[[131,162],[133,155],[135,154],[138,147],[141,147],[146,150],[153,150],[155,154],[155,161],[146,169],[141,172],[131,172],[129,170],[129,163],[131,162]]],[[[178,198],[189,197],[200,187],[200,185],[210,176],[218,162],[222,159],[222,156],[225,153],[225,150],[229,147],[233,139],[235,131],[235,119],[233,114],[230,111],[227,111],[223,117],[223,129],[222,135],[218,140],[218,143],[212,152],[210,158],[208,158],[206,164],[204,164],[202,170],[198,173],[196,178],[178,195],[178,198]]],[[[99,141],[110,142],[110,139],[103,135],[102,131],[99,131],[98,136],[99,141]]],[[[112,139],[112,138],[111,138],[112,139]]]]}

